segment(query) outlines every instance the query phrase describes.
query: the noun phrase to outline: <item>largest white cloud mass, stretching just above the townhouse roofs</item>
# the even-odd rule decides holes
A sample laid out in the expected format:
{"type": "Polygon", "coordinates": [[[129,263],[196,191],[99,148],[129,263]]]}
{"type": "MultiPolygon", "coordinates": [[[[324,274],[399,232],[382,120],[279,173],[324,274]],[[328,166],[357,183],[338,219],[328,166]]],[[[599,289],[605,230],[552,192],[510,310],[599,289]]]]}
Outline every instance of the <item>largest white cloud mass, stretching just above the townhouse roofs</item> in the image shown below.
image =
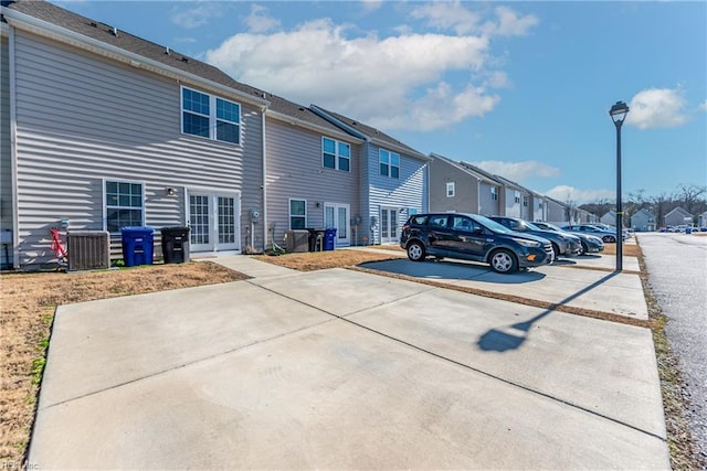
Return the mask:
{"type": "MultiPolygon", "coordinates": [[[[414,10],[457,31],[476,24],[476,13],[458,2],[414,10]]],[[[264,17],[262,9],[256,13],[264,17]]],[[[507,23],[513,21],[499,22],[507,23]]],[[[398,35],[380,38],[354,36],[352,31],[358,30],[350,24],[312,20],[291,31],[235,34],[205,57],[238,81],[391,131],[429,131],[484,116],[500,100],[493,89],[509,86],[505,72],[493,64],[487,35],[400,29],[398,35]],[[450,81],[455,73],[468,78],[450,81]]]]}

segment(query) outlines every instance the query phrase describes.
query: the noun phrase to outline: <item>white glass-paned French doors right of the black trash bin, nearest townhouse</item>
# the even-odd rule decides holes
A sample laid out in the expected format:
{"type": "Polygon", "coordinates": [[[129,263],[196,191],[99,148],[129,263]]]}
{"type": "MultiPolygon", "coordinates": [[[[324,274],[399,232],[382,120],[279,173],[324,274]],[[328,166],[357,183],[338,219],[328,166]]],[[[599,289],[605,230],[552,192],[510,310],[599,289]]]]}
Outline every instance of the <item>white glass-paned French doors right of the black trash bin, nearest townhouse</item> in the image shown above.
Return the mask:
{"type": "Polygon", "coordinates": [[[240,250],[238,194],[189,192],[191,251],[240,250]]]}

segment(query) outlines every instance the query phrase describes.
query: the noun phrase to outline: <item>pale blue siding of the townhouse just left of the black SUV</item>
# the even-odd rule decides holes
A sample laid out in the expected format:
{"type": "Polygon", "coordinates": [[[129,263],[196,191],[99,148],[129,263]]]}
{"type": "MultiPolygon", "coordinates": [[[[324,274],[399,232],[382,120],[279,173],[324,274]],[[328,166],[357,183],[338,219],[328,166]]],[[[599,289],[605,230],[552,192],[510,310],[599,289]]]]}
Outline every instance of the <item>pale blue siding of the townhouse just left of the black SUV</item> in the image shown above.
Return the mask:
{"type": "Polygon", "coordinates": [[[380,210],[381,207],[398,207],[398,231],[408,220],[408,211],[414,208],[421,213],[429,208],[429,176],[428,162],[400,153],[400,178],[382,176],[379,169],[378,151],[380,147],[368,144],[369,204],[368,221],[363,220],[361,233],[366,233],[368,225],[369,244],[380,244],[380,210]],[[372,218],[378,225],[372,227],[372,218]]]}

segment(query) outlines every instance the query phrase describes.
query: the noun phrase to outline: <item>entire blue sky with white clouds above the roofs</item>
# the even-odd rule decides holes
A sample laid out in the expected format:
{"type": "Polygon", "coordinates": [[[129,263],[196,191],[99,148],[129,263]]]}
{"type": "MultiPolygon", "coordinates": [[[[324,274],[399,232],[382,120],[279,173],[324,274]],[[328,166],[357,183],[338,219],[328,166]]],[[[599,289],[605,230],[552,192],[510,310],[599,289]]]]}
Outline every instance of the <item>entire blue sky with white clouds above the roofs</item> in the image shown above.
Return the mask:
{"type": "Polygon", "coordinates": [[[707,185],[707,2],[59,1],[574,204],[707,185]]]}

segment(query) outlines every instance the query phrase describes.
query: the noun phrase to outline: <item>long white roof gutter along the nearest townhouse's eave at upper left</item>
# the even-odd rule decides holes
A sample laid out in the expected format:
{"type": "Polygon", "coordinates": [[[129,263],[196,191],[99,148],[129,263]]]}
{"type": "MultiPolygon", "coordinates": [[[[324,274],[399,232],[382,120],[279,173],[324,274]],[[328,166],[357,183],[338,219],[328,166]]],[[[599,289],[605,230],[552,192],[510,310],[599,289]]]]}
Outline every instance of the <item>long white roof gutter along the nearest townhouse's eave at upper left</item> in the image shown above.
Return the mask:
{"type": "Polygon", "coordinates": [[[210,88],[214,92],[236,97],[239,100],[247,101],[255,106],[262,107],[270,104],[270,101],[264,98],[257,98],[253,95],[249,95],[244,92],[238,90],[226,85],[222,85],[217,82],[200,77],[198,75],[181,71],[177,67],[170,67],[169,65],[165,65],[158,61],[154,61],[137,53],[126,51],[124,49],[110,45],[93,38],[88,38],[81,33],[76,33],[75,31],[57,26],[56,24],[49,23],[27,13],[21,13],[15,10],[3,8],[2,14],[4,15],[8,23],[12,28],[17,28],[18,30],[28,31],[43,38],[49,38],[64,44],[70,44],[74,47],[89,51],[95,54],[103,55],[104,57],[109,57],[114,61],[131,65],[133,67],[143,68],[176,81],[187,81],[193,85],[201,85],[205,88],[210,88]]]}

